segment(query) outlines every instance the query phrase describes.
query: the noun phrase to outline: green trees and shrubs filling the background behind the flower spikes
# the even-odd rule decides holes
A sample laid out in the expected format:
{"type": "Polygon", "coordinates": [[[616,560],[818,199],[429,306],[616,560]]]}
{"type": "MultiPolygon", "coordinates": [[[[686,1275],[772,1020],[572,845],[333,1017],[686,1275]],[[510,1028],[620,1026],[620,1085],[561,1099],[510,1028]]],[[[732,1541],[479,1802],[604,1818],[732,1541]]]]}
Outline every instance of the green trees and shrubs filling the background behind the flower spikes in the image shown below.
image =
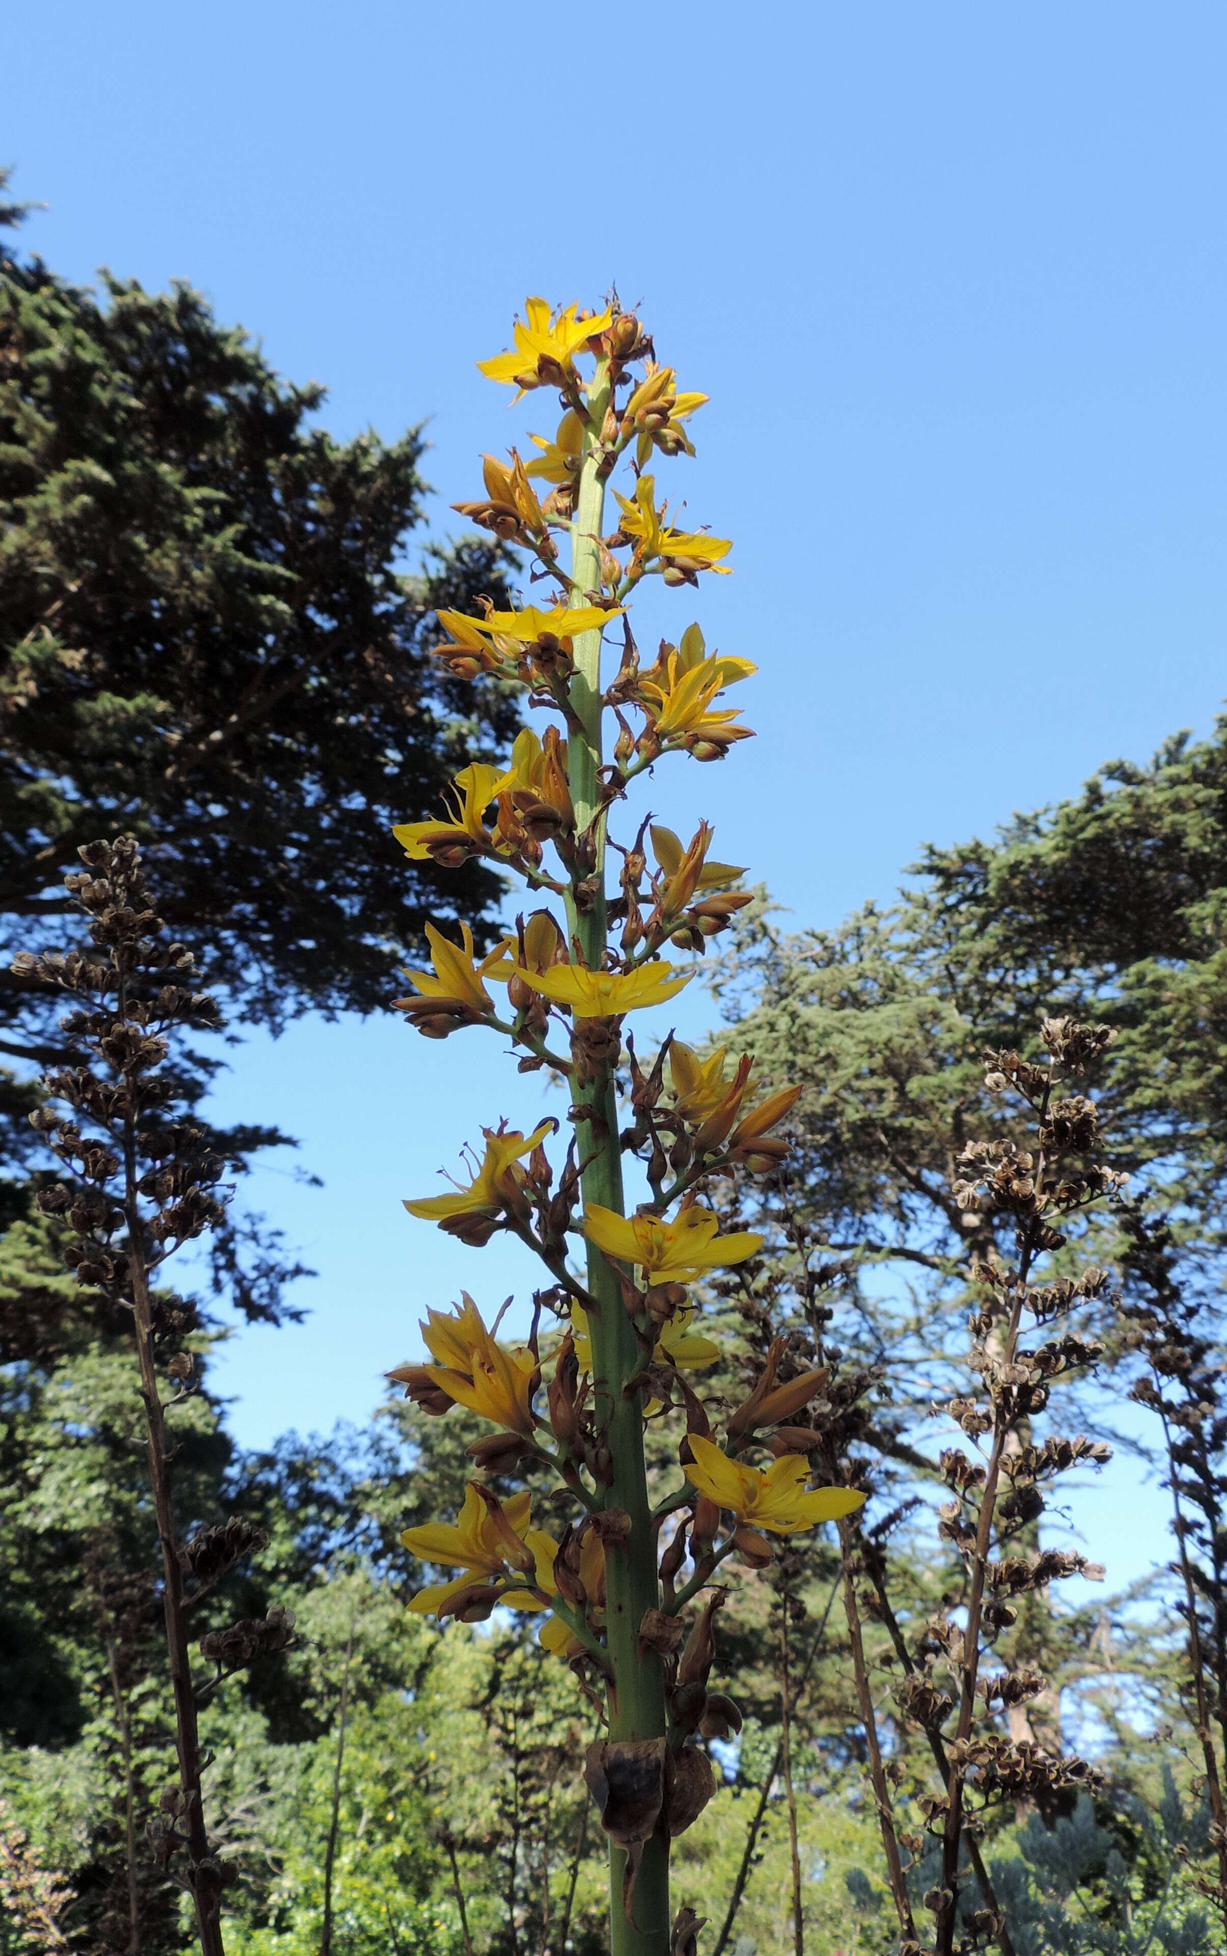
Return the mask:
{"type": "MultiPolygon", "coordinates": [[[[447,917],[455,886],[430,865],[406,874],[387,829],[432,810],[457,757],[514,730],[504,698],[442,683],[424,659],[434,608],[502,600],[514,563],[461,542],[404,575],[418,436],[336,444],[318,405],[186,288],[115,282],[98,301],[16,250],[0,260],[10,956],[72,939],[61,874],[80,843],[121,829],[240,1021],[379,1009],[424,919],[447,917]]],[[[492,919],[498,888],[481,874],[463,902],[492,919]]],[[[719,1039],[744,1037],[805,1095],[787,1170],[754,1197],[768,1250],[709,1297],[725,1344],[711,1389],[739,1377],[762,1312],[817,1256],[828,1342],[860,1381],[848,1444],[879,1494],[881,1569],[858,1565],[856,1594],[889,1588],[909,1625],[955,1582],[938,1530],[950,1420],[934,1404],[965,1385],[969,1271],[1004,1228],[955,1189],[961,1150],[1006,1133],[983,1052],[1032,1048],[1057,1013],[1116,1033],[1092,1091],[1100,1154],[1137,1209],[1106,1211],[1077,1246],[1112,1283],[1079,1320],[1102,1357],[1092,1383],[1065,1387],[1061,1430],[1147,1449],[1184,1508],[1170,1573],[1125,1596],[1075,1584],[1073,1602],[1020,1614],[1012,1661],[1047,1682],[1000,1710],[1002,1727],[1049,1758],[1079,1743],[1098,1774],[994,1811],[985,1856],[1020,1956],[1223,1946],[1225,931],[1227,722],[1149,767],[1104,769],[993,841],[928,851],[891,910],[838,931],[785,935],[764,900],[713,974],[719,1039]],[[1206,1631],[1192,1655],[1190,1622],[1206,1631]]],[[[59,1009],[10,974],[0,1011],[0,1948],[94,1956],[133,1948],[123,1801],[133,1792],[145,1827],[170,1780],[156,1532],[127,1332],[76,1285],[63,1226],[35,1201],[49,1164],[25,1115],[63,1052],[59,1009]]],[[[176,1064],[191,1109],[209,1068],[176,1064]]],[[[254,1121],[213,1144],[240,1183],[274,1138],[254,1121]]],[[[750,1199],[725,1191],[729,1209],[750,1199]]],[[[213,1299],[275,1320],[295,1267],[275,1232],[236,1199],[215,1244],[213,1299]]],[[[600,1950],[578,1778],[590,1706],[531,1627],[440,1631],[402,1608],[422,1571],[399,1532],[459,1506],[473,1430],[393,1402],[367,1432],[244,1455],[209,1393],[215,1336],[203,1299],[188,1334],[199,1389],[178,1414],[180,1528],[236,1516],[266,1535],[217,1606],[260,1620],[275,1602],[297,1625],[203,1721],[234,1870],[227,1946],[600,1950]]],[[[1049,1528],[1036,1549],[1067,1539],[1049,1528]]],[[[828,1539],[746,1575],[725,1612],[746,1721],[711,1741],[723,1786],[676,1856],[709,1950],[895,1946],[844,1604],[828,1539]]],[[[867,1618],[903,1801],[924,1731],[891,1696],[889,1625],[867,1618]]],[[[137,1860],[137,1946],[190,1946],[145,1837],[137,1860]]]]}

